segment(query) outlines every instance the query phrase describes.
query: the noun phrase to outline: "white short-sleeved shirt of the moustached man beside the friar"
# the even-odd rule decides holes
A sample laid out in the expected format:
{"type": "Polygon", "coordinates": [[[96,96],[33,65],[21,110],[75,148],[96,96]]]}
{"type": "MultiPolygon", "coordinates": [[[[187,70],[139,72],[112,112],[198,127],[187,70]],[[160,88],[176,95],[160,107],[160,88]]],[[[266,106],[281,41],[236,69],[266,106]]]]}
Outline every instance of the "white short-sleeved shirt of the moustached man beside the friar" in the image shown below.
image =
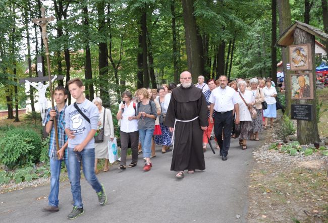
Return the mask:
{"type": "Polygon", "coordinates": [[[208,101],[214,104],[216,112],[228,112],[234,109],[234,104],[239,102],[238,93],[232,87],[226,86],[224,89],[217,87],[212,90],[208,101]]]}

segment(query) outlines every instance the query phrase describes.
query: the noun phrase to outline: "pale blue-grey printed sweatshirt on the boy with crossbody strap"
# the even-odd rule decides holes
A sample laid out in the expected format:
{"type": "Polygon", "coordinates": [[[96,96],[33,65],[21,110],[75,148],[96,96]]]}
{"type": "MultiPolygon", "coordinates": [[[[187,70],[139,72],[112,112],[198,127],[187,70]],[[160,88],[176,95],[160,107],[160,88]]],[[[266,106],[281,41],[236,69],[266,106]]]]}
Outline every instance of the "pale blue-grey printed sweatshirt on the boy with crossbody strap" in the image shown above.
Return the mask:
{"type": "MultiPolygon", "coordinates": [[[[70,129],[75,135],[74,139],[68,139],[69,148],[74,148],[81,144],[91,129],[97,130],[98,126],[99,110],[96,105],[88,99],[85,99],[80,104],[77,103],[77,105],[84,115],[90,119],[91,124],[83,118],[73,104],[65,109],[65,129],[70,129]]],[[[84,148],[93,149],[94,138],[84,148]]]]}

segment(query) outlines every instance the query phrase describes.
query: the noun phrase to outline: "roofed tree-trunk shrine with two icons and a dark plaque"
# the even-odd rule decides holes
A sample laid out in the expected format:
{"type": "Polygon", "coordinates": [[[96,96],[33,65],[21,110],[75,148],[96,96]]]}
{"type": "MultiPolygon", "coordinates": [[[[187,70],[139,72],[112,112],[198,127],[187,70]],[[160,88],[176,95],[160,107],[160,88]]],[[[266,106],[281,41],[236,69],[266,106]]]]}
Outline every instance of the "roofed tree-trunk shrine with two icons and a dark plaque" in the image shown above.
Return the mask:
{"type": "Polygon", "coordinates": [[[316,110],[315,37],[328,40],[328,34],[322,30],[296,21],[277,41],[278,46],[290,49],[290,56],[283,61],[291,80],[290,86],[286,86],[290,90],[286,93],[292,95],[291,118],[297,120],[297,141],[301,144],[320,141],[316,110]]]}

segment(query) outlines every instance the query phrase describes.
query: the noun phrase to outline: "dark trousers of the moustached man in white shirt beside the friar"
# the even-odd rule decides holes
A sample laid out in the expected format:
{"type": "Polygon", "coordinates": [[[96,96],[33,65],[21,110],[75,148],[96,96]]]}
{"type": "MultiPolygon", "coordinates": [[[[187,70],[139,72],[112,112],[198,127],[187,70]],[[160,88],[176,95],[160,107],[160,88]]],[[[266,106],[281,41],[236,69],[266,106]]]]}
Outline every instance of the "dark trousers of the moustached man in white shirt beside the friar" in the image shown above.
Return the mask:
{"type": "Polygon", "coordinates": [[[227,156],[230,147],[231,129],[233,126],[232,110],[224,114],[214,114],[214,134],[218,146],[220,146],[220,155],[227,156]],[[224,132],[224,139],[222,140],[222,132],[224,132]]]}

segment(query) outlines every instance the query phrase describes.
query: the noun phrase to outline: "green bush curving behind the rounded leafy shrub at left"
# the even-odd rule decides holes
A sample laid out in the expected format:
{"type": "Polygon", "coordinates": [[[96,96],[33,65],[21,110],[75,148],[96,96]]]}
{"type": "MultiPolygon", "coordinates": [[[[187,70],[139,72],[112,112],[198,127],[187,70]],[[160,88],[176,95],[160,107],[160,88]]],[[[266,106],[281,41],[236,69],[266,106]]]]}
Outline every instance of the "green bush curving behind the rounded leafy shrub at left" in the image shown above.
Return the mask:
{"type": "MultiPolygon", "coordinates": [[[[26,130],[15,128],[7,132],[6,136],[21,135],[24,138],[30,139],[29,143],[33,146],[33,149],[29,151],[29,154],[33,156],[32,162],[36,163],[40,159],[40,153],[42,149],[41,137],[33,130],[26,130]]],[[[15,140],[14,140],[15,141],[15,140]]]]}

